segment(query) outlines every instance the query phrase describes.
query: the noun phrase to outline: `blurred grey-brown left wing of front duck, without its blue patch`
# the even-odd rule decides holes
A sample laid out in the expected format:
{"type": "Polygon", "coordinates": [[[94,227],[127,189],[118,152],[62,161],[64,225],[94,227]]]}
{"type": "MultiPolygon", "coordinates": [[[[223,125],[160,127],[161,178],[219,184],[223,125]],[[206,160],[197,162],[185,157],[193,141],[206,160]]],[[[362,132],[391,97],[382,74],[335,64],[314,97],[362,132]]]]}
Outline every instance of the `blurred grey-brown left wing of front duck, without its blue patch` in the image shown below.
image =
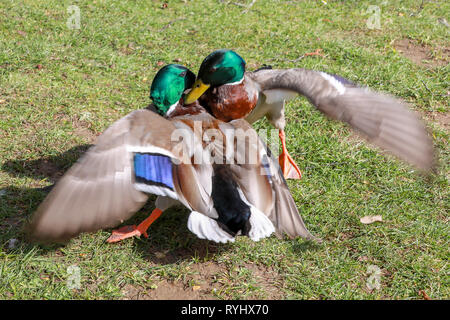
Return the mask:
{"type": "Polygon", "coordinates": [[[170,121],[146,109],[111,125],[38,207],[27,226],[31,239],[65,241],[130,218],[148,196],[133,185],[129,148],[170,155],[173,129],[170,121]]]}

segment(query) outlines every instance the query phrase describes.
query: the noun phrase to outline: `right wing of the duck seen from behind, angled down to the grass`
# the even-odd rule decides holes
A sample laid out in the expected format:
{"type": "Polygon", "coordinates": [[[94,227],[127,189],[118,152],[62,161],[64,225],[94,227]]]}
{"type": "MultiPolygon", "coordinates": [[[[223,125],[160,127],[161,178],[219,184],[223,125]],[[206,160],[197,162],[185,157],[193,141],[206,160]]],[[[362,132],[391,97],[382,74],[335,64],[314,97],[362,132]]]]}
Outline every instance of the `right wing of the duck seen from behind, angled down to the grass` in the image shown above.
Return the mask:
{"type": "Polygon", "coordinates": [[[277,235],[286,233],[291,238],[319,240],[306,228],[278,161],[273,157],[270,149],[245,120],[233,120],[229,124],[237,130],[237,134],[242,134],[239,131],[242,130],[249,137],[253,134],[254,138],[250,140],[257,140],[257,143],[253,144],[253,149],[246,148],[249,153],[256,152],[256,163],[249,161],[250,158],[247,157],[245,163],[237,161],[235,165],[232,165],[235,179],[248,201],[266,214],[275,226],[277,235]]]}

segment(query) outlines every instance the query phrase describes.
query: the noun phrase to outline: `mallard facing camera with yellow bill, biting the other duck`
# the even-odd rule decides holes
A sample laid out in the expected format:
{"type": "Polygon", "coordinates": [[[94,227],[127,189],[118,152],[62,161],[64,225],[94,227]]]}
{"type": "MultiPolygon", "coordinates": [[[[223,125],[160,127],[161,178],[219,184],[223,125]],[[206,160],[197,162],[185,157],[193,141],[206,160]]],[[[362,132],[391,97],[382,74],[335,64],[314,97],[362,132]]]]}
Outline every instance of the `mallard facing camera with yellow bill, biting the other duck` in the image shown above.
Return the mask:
{"type": "Polygon", "coordinates": [[[264,116],[279,129],[280,166],[286,178],[301,172],[286,148],[285,101],[305,96],[328,117],[349,124],[366,139],[399,158],[428,171],[433,144],[419,117],[399,100],[362,88],[343,77],[307,69],[245,72],[245,61],[232,50],[217,50],[202,62],[193,89],[185,97],[200,103],[217,119],[264,116]]]}

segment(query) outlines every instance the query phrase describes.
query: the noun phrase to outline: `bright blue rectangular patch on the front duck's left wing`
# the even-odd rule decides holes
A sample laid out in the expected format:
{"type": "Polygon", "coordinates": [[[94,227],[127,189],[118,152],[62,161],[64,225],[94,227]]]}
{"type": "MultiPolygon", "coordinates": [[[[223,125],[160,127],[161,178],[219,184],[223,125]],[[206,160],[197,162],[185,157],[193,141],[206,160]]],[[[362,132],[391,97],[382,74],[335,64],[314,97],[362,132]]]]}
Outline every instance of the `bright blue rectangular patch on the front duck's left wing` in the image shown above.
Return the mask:
{"type": "Polygon", "coordinates": [[[172,161],[167,156],[135,153],[134,174],[136,182],[163,186],[173,190],[172,161]]]}

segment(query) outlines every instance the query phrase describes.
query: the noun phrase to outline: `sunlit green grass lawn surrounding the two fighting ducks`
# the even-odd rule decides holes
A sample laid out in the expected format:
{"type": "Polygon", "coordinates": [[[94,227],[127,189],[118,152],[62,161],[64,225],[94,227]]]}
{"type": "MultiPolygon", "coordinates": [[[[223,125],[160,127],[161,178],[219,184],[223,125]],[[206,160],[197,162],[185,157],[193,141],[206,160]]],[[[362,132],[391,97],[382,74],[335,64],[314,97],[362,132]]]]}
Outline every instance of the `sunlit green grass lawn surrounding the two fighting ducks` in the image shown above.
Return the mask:
{"type": "Polygon", "coordinates": [[[450,298],[449,132],[439,120],[448,119],[449,28],[438,22],[450,20],[448,1],[258,0],[246,14],[232,1],[163,3],[0,2],[0,299],[164,298],[164,290],[178,298],[422,299],[421,290],[450,298]],[[79,30],[66,26],[72,4],[79,30]],[[374,4],[380,30],[366,25],[374,4]],[[426,47],[428,64],[396,50],[401,39],[426,47]],[[237,50],[249,69],[318,69],[403,98],[428,120],[438,174],[419,176],[297,98],[286,132],[304,178],[289,185],[322,244],[271,237],[218,245],[192,235],[179,209],[155,222],[149,239],[109,245],[104,230],[63,247],[26,243],[20,227],[45,197],[37,188],[109,124],[149,103],[158,62],[197,72],[217,48],[237,50]],[[289,61],[317,48],[324,57],[289,61]],[[359,222],[377,214],[382,223],[359,222]],[[19,244],[9,249],[12,238],[19,244]],[[66,285],[72,265],[79,289],[66,285]],[[366,286],[370,265],[381,269],[379,290],[366,286]]]}

